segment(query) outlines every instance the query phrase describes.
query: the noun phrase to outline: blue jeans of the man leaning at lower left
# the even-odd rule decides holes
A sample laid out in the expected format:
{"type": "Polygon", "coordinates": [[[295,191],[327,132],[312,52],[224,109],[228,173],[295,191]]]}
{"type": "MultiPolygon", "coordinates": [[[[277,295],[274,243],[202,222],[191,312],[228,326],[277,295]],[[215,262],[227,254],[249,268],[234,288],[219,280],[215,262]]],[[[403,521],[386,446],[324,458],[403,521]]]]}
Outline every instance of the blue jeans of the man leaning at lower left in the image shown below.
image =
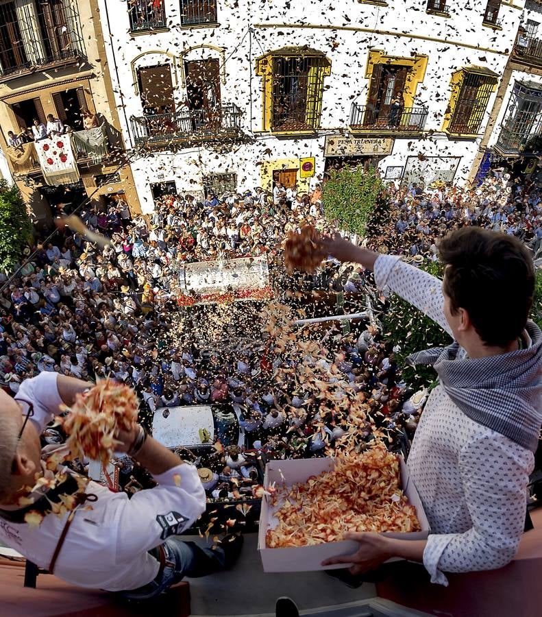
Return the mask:
{"type": "Polygon", "coordinates": [[[156,579],[138,589],[121,592],[127,600],[148,600],[181,581],[184,577],[206,577],[224,568],[222,548],[200,548],[194,542],[183,542],[178,536],[162,544],[166,553],[166,566],[156,579]]]}

